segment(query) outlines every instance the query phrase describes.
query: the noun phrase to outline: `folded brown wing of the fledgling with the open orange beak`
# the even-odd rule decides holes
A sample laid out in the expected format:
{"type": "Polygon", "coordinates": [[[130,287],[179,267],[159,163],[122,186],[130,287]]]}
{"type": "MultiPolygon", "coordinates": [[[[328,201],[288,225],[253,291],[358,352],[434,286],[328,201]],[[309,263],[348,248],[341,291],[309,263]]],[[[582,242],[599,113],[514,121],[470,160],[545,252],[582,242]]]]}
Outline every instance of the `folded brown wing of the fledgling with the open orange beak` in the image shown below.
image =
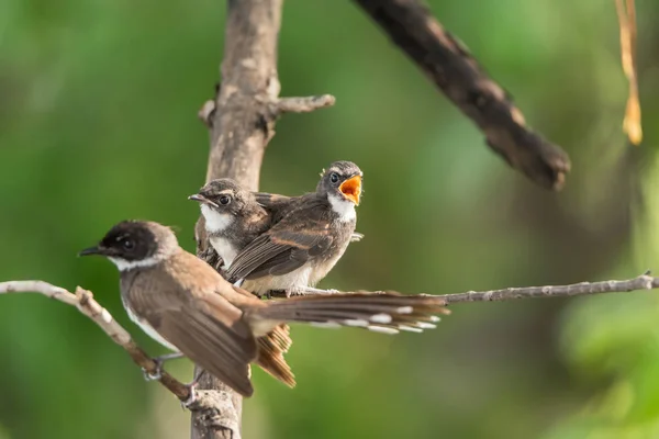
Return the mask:
{"type": "Polygon", "coordinates": [[[326,209],[305,203],[245,247],[234,259],[227,279],[281,275],[325,251],[334,240],[326,209]]]}

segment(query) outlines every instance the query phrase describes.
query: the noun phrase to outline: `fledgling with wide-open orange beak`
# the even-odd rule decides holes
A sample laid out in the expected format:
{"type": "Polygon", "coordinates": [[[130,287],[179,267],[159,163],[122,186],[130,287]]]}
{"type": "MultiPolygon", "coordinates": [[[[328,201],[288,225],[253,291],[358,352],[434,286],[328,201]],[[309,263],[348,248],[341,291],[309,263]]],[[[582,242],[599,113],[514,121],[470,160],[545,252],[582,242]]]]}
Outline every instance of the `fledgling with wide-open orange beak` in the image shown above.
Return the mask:
{"type": "Polygon", "coordinates": [[[361,170],[335,161],[316,191],[295,201],[277,224],[233,258],[226,277],[257,295],[327,293],[315,289],[343,256],[355,232],[355,206],[361,196],[361,170]]]}

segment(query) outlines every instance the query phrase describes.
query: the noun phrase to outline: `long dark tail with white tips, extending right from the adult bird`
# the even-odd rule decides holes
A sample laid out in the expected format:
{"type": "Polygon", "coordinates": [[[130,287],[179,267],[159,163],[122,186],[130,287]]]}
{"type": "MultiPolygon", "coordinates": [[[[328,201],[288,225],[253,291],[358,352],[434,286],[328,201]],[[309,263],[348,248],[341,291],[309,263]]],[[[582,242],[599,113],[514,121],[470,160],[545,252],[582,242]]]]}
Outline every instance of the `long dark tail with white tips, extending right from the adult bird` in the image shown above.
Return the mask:
{"type": "Polygon", "coordinates": [[[446,302],[431,295],[355,293],[291,297],[250,308],[254,319],[303,322],[321,327],[353,326],[378,333],[420,333],[435,328],[439,317],[449,314],[446,302]]]}

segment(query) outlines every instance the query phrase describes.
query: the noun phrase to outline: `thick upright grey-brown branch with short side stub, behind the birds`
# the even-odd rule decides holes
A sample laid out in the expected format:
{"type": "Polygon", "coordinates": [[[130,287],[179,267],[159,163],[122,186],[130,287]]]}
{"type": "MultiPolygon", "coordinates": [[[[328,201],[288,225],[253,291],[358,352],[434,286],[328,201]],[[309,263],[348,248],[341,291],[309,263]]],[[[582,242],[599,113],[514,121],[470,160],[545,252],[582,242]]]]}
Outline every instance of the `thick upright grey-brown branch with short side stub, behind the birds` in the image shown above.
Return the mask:
{"type": "MultiPolygon", "coordinates": [[[[231,0],[226,20],[222,83],[213,101],[199,111],[210,128],[205,181],[232,178],[256,191],[264,151],[275,122],[286,112],[310,112],[334,104],[334,97],[279,99],[277,40],[283,0],[231,0]]],[[[197,255],[212,262],[203,217],[197,222],[197,255]]],[[[239,438],[242,397],[205,373],[199,389],[215,391],[223,402],[213,410],[193,412],[192,439],[239,438]]]]}

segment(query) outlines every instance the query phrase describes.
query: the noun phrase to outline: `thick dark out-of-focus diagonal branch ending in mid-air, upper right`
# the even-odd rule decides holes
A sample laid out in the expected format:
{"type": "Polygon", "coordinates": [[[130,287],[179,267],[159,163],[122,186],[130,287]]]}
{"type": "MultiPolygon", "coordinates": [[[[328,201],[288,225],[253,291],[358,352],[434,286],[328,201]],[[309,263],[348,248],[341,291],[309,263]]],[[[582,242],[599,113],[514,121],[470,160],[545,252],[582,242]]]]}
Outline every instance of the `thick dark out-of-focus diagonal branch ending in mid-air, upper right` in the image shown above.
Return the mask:
{"type": "Polygon", "coordinates": [[[355,0],[485,135],[511,167],[545,188],[560,190],[568,155],[524,121],[506,92],[421,0],[355,0]]]}

